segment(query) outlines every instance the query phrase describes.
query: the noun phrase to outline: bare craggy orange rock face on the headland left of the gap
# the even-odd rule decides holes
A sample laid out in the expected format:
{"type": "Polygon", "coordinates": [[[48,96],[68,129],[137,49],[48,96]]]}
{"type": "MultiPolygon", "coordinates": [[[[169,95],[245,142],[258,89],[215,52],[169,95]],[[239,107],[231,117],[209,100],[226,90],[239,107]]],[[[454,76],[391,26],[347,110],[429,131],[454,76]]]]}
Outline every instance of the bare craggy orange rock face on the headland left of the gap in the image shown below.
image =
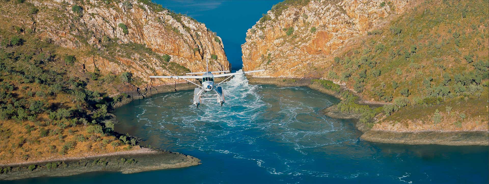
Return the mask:
{"type": "MultiPolygon", "coordinates": [[[[102,74],[117,75],[127,71],[150,83],[150,75],[176,75],[190,69],[203,71],[206,59],[209,59],[209,69],[230,69],[222,40],[216,33],[203,23],[153,3],[138,0],[28,0],[26,3],[39,10],[31,20],[4,12],[0,22],[16,22],[40,39],[74,50],[78,61],[75,67],[84,72],[98,69],[102,74]],[[90,53],[95,54],[77,54],[80,50],[92,50],[90,53]],[[165,54],[170,56],[169,62],[162,61],[165,54]],[[211,59],[213,55],[217,59],[211,59]]],[[[5,9],[16,9],[15,4],[5,3],[5,6],[12,6],[5,9]]],[[[157,79],[152,84],[164,82],[157,79]]]]}

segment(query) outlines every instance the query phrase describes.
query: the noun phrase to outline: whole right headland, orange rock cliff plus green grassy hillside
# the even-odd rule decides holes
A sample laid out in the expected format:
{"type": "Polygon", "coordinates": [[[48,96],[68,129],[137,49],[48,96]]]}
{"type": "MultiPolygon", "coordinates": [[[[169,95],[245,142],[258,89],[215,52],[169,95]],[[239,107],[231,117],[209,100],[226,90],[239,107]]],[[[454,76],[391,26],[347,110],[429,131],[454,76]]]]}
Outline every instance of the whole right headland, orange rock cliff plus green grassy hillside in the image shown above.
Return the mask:
{"type": "Polygon", "coordinates": [[[372,131],[487,140],[488,14],[484,1],[285,0],[248,30],[244,70],[267,69],[257,83],[320,78],[308,86],[336,90],[338,113],[372,131]]]}

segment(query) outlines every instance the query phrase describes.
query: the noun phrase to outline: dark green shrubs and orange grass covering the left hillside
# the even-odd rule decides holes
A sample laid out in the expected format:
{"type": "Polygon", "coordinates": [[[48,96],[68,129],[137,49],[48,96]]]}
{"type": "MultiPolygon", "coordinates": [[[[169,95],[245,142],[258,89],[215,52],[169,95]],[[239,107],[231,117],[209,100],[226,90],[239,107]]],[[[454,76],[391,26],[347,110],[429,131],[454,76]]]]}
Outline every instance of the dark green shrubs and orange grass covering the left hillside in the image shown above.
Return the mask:
{"type": "Polygon", "coordinates": [[[74,75],[67,68],[75,57],[63,56],[58,46],[30,36],[22,36],[22,44],[15,45],[14,37],[0,30],[1,43],[6,43],[0,46],[0,160],[135,145],[135,139],[114,134],[114,124],[107,121],[112,105],[128,96],[110,97],[88,89],[90,83],[110,76],[74,75]]]}

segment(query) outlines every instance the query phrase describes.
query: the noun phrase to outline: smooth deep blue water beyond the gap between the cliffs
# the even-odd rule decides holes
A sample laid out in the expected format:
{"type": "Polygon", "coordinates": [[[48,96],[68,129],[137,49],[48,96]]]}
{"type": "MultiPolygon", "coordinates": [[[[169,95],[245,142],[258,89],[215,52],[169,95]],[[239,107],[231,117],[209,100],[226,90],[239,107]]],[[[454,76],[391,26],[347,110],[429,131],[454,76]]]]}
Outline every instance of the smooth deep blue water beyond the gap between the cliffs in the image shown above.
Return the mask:
{"type": "Polygon", "coordinates": [[[233,69],[243,68],[241,45],[246,31],[282,0],[154,0],[177,13],[187,14],[222,38],[233,69]]]}

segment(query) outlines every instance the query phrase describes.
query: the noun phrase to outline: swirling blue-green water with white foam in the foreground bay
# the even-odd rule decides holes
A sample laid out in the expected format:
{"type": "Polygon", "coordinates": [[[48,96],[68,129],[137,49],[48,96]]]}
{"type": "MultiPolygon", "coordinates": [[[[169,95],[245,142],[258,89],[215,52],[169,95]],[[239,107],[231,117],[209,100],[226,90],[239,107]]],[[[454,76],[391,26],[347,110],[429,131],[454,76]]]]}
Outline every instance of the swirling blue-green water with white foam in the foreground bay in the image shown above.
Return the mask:
{"type": "MultiPolygon", "coordinates": [[[[487,146],[372,143],[338,103],[308,88],[226,82],[223,107],[191,105],[192,91],[160,93],[117,109],[116,131],[202,164],[134,174],[92,172],[13,183],[488,183],[487,146]]],[[[2,182],[3,183],[3,182],[2,182]]],[[[5,182],[11,183],[11,182],[5,182]]]]}

